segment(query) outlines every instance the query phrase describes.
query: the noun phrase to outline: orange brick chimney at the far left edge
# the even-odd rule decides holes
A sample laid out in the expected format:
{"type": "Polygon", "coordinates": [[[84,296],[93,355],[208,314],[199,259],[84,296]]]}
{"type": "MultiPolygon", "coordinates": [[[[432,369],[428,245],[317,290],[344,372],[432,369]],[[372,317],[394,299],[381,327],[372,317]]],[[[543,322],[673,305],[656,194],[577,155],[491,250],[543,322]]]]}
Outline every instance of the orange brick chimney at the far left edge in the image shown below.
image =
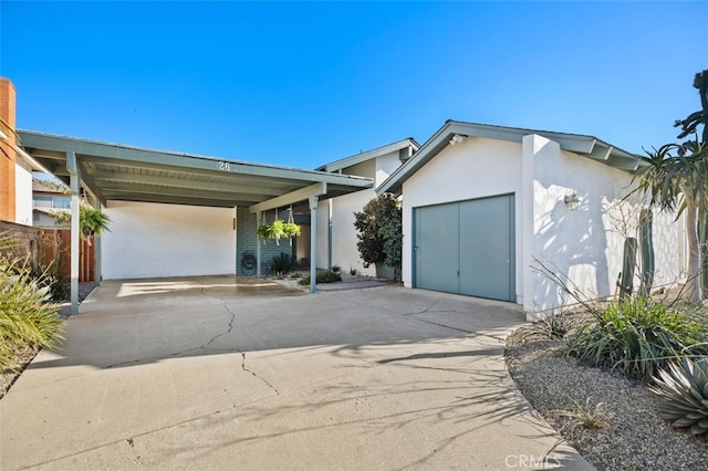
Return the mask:
{"type": "MultiPolygon", "coordinates": [[[[15,129],[15,93],[14,85],[8,78],[0,77],[0,127],[8,136],[14,139],[15,129]]],[[[0,139],[0,220],[14,222],[15,220],[15,192],[14,192],[14,149],[4,139],[0,139]]]]}

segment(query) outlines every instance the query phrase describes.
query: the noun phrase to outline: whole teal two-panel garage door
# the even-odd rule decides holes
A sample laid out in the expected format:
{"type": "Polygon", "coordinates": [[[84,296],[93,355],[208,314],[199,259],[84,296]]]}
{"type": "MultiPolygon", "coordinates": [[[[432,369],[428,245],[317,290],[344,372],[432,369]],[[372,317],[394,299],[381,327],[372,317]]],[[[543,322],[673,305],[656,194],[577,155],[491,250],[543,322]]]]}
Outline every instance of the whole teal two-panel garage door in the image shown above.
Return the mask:
{"type": "Polygon", "coordinates": [[[513,195],[414,208],[414,286],[516,301],[513,195]]]}

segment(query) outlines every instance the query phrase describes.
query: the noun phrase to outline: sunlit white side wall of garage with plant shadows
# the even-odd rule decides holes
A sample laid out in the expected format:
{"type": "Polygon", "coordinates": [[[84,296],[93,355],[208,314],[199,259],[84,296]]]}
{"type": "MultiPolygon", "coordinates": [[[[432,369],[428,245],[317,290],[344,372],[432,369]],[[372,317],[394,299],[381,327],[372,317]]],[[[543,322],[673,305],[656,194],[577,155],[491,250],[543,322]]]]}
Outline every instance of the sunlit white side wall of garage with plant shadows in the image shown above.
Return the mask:
{"type": "MultiPolygon", "coordinates": [[[[615,292],[626,237],[638,240],[638,201],[623,199],[632,175],[589,158],[566,153],[544,137],[523,140],[524,191],[532,202],[521,208],[523,244],[523,305],[527,312],[552,310],[574,300],[534,268],[543,263],[569,280],[586,299],[615,292]],[[577,193],[580,207],[571,211],[564,197],[577,193]]],[[[678,276],[678,230],[668,214],[655,213],[655,285],[678,276]]],[[[637,273],[638,275],[638,273],[637,273]]],[[[638,286],[635,280],[635,290],[638,286]]]]}

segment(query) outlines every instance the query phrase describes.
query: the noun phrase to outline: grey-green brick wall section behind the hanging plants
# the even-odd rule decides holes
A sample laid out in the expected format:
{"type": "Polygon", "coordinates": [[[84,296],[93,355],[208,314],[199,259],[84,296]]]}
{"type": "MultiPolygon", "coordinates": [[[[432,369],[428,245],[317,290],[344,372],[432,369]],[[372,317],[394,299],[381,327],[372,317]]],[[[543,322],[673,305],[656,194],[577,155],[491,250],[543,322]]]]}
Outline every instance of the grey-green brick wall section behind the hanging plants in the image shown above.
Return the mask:
{"type": "MultiPolygon", "coordinates": [[[[273,211],[269,211],[266,214],[266,219],[268,222],[272,222],[275,218],[273,211]]],[[[288,211],[281,211],[280,218],[283,220],[288,220],[288,211]]],[[[237,208],[236,210],[236,274],[239,276],[243,275],[254,275],[254,272],[246,272],[241,264],[241,259],[243,254],[250,251],[253,257],[256,257],[256,251],[258,250],[256,244],[261,244],[261,273],[270,274],[270,265],[273,260],[273,257],[279,255],[281,252],[284,252],[289,255],[292,255],[293,248],[290,247],[290,241],[288,239],[281,239],[280,245],[275,243],[274,240],[267,240],[266,244],[263,241],[258,239],[256,236],[257,227],[256,227],[256,214],[251,214],[248,211],[248,208],[237,208]]],[[[294,243],[294,241],[293,241],[294,243]]]]}

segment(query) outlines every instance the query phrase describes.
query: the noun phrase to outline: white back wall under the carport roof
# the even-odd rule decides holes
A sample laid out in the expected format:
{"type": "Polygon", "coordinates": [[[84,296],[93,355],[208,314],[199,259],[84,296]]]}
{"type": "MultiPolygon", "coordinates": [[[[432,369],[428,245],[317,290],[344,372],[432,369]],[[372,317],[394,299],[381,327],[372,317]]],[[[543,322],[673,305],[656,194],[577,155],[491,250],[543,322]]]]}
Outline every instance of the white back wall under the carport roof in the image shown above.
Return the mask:
{"type": "Polygon", "coordinates": [[[106,280],[236,274],[233,208],[108,201],[106,280]]]}

